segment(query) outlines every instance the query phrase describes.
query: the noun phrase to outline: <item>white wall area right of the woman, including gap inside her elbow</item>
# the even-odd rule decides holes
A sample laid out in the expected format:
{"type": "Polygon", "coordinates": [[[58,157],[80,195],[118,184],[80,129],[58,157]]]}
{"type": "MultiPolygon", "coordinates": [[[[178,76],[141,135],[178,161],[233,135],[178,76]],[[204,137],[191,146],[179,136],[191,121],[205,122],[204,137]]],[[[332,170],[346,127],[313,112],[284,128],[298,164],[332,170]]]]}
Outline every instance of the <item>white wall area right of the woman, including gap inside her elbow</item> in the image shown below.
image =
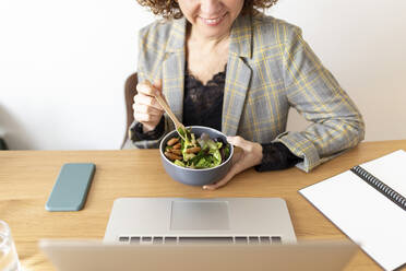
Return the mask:
{"type": "MultiPolygon", "coordinates": [[[[271,14],[303,36],[358,105],[367,141],[406,139],[406,1],[280,0],[271,14]]],[[[291,111],[290,130],[306,127],[291,111]]]]}

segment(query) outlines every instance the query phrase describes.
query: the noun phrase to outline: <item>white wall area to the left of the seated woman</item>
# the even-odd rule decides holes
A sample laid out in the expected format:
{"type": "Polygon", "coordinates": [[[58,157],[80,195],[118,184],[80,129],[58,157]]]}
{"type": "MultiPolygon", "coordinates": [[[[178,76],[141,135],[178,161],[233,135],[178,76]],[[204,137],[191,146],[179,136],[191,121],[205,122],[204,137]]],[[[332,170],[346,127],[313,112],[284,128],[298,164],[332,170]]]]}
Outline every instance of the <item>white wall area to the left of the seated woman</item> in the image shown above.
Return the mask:
{"type": "Polygon", "coordinates": [[[0,0],[0,129],[13,149],[118,149],[135,0],[0,0]]]}

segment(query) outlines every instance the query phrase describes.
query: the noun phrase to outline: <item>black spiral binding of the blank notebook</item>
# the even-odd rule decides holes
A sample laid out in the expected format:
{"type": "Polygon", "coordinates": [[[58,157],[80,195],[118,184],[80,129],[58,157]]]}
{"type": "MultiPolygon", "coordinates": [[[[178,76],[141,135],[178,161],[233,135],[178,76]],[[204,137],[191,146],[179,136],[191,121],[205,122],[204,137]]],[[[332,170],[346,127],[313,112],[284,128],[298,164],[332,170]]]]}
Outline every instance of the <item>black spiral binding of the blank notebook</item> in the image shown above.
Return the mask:
{"type": "Polygon", "coordinates": [[[386,198],[392,200],[394,203],[399,205],[403,210],[406,211],[406,198],[393,190],[391,187],[385,185],[383,181],[378,179],[375,176],[367,172],[365,168],[360,166],[355,166],[350,169],[353,173],[355,173],[358,177],[367,181],[370,186],[375,188],[378,191],[380,191],[382,195],[384,195],[386,198]]]}

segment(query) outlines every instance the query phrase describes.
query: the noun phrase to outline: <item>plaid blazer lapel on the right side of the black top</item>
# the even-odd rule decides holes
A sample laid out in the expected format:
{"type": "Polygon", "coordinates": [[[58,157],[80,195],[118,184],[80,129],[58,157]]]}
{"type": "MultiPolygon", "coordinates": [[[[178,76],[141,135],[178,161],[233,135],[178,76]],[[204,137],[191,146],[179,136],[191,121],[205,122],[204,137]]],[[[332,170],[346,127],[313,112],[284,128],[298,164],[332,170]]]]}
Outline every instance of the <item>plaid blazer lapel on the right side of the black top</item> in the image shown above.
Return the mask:
{"type": "Polygon", "coordinates": [[[222,131],[236,136],[240,122],[247,91],[251,82],[250,59],[252,43],[251,16],[239,16],[231,28],[223,102],[222,131]]]}

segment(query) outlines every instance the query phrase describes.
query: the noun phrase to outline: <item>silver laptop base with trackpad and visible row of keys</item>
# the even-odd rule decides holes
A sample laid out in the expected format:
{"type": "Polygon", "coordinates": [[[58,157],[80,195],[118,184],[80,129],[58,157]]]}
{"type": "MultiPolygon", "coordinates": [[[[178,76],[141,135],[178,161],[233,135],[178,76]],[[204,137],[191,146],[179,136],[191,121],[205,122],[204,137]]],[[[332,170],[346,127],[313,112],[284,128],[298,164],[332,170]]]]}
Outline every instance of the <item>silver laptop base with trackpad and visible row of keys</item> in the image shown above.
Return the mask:
{"type": "Polygon", "coordinates": [[[286,202],[279,198],[120,198],[105,243],[296,243],[286,202]]]}

